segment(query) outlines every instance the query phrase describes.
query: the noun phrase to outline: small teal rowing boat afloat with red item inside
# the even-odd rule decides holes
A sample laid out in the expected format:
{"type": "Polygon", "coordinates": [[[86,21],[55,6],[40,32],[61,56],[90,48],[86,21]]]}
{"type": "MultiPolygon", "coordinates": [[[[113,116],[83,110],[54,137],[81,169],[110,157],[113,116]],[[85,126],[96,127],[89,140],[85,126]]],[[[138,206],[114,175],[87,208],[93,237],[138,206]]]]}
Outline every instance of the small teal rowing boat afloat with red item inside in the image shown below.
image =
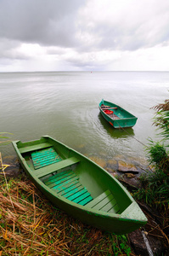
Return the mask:
{"type": "Polygon", "coordinates": [[[99,103],[99,110],[104,119],[106,119],[114,128],[132,127],[136,124],[138,119],[132,113],[127,112],[118,105],[104,100],[99,103]]]}

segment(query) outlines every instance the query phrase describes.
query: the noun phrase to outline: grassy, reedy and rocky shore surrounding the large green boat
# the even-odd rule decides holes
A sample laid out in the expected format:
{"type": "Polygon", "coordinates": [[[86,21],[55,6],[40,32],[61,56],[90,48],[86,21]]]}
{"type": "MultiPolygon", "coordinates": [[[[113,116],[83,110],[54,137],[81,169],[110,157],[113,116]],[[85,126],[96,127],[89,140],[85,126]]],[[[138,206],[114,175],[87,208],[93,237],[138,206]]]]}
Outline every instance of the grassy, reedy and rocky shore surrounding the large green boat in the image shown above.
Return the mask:
{"type": "MultiPolygon", "coordinates": [[[[169,100],[155,106],[155,110],[157,113],[154,124],[160,128],[163,140],[160,143],[149,140],[146,151],[151,169],[140,175],[136,166],[125,163],[125,160],[118,160],[117,170],[125,170],[117,178],[138,201],[148,218],[148,224],[144,228],[116,236],[82,224],[52,206],[22,170],[17,172],[16,177],[8,177],[10,175],[6,170],[9,165],[4,165],[2,160],[0,167],[4,172],[0,172],[0,256],[168,255],[169,155],[166,148],[169,146],[169,100]],[[127,172],[127,169],[131,172],[127,172]]],[[[0,141],[4,143],[4,140],[8,140],[8,137],[0,132],[0,141]]],[[[112,160],[106,163],[105,169],[112,172],[111,167],[116,162],[112,160]]]]}

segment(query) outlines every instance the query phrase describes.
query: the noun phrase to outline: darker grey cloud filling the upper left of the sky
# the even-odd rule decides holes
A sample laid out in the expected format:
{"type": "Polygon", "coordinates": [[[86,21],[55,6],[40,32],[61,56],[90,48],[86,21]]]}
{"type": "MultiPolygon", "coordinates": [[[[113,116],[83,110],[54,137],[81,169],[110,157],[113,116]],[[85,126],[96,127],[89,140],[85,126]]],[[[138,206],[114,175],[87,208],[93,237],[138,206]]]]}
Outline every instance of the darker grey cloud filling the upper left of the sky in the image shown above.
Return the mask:
{"type": "Polygon", "coordinates": [[[76,10],[84,1],[1,0],[0,36],[27,43],[75,44],[76,10]]]}

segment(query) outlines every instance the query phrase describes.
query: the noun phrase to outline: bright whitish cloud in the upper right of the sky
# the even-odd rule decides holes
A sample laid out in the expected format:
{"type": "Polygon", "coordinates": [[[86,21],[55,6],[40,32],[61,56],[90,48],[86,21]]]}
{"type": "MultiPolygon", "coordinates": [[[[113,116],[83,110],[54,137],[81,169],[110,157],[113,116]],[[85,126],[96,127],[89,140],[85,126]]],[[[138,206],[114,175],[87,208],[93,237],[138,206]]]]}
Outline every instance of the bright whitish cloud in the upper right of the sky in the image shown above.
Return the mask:
{"type": "MultiPolygon", "coordinates": [[[[94,0],[81,9],[78,29],[93,38],[90,43],[96,48],[135,50],[168,40],[168,24],[166,1],[94,0]]],[[[83,37],[79,38],[83,42],[83,37]]]]}

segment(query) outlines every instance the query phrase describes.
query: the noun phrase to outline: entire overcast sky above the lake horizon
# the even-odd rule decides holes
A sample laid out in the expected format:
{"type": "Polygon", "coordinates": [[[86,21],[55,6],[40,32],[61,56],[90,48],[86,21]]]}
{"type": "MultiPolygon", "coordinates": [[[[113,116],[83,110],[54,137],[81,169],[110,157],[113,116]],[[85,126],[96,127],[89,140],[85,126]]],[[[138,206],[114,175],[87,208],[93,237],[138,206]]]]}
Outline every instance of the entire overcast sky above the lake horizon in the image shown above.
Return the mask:
{"type": "Polygon", "coordinates": [[[0,72],[169,71],[169,0],[0,0],[0,72]]]}

